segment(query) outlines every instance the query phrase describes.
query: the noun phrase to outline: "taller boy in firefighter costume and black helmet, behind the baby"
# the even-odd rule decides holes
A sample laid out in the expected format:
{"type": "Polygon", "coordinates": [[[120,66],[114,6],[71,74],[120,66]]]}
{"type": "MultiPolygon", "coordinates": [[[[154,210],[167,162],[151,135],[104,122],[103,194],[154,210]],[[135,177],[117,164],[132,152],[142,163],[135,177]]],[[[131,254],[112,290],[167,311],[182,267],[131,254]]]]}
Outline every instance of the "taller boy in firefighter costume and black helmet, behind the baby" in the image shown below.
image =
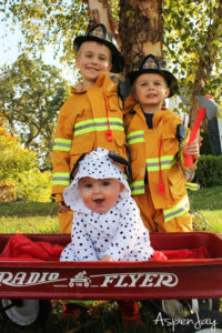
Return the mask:
{"type": "Polygon", "coordinates": [[[62,193],[70,184],[70,173],[79,157],[102,147],[125,158],[117,84],[108,78],[109,71],[122,71],[124,60],[111,38],[103,24],[97,24],[74,39],[83,90],[72,88],[72,97],[60,110],[52,154],[52,196],[60,209],[61,233],[71,232],[72,211],[64,204],[62,193]]]}

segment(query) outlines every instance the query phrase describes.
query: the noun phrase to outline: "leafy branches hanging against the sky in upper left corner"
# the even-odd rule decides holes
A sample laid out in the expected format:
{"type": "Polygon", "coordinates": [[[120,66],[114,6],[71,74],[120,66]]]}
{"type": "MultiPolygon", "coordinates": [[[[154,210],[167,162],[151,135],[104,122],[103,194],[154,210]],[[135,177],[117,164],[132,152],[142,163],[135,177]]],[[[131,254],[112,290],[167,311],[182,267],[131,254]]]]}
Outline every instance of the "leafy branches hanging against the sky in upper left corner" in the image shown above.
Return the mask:
{"type": "Polygon", "coordinates": [[[6,20],[12,20],[12,29],[13,22],[19,23],[27,52],[38,54],[46,46],[53,44],[56,54],[62,51],[61,60],[73,70],[72,40],[89,22],[83,1],[6,0],[1,9],[6,20]]]}

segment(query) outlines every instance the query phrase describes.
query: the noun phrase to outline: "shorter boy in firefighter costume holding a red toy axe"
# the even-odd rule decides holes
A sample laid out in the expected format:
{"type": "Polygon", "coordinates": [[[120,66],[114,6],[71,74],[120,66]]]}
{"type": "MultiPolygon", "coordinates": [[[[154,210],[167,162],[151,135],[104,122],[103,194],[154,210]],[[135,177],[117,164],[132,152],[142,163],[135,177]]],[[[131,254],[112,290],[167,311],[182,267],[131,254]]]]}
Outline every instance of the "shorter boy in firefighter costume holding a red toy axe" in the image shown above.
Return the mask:
{"type": "Polygon", "coordinates": [[[196,161],[199,143],[185,143],[181,119],[163,107],[178,81],[149,54],[129,73],[138,105],[125,114],[130,150],[132,195],[151,232],[192,231],[184,173],[184,154],[196,161]]]}

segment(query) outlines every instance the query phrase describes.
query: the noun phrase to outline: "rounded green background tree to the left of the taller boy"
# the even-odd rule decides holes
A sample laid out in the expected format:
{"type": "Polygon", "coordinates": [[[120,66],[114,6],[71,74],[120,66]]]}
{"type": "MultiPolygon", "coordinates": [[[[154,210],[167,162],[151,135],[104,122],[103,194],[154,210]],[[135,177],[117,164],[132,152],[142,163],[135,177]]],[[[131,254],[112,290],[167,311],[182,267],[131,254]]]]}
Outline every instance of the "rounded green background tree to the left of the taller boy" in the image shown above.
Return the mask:
{"type": "Polygon", "coordinates": [[[40,165],[51,168],[51,150],[57,117],[67,85],[56,67],[22,54],[0,77],[0,107],[10,132],[39,153],[40,165]]]}

